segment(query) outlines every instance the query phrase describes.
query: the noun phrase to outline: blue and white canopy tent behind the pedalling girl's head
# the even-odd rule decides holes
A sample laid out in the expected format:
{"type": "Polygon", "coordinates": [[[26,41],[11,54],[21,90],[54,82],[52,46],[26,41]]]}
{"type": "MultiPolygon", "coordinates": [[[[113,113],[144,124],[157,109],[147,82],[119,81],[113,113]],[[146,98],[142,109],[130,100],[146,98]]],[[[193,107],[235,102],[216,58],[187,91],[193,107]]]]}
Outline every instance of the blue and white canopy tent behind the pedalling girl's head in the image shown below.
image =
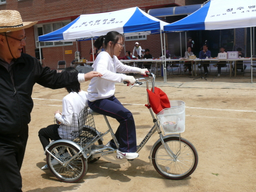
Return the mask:
{"type": "Polygon", "coordinates": [[[80,15],[66,26],[39,36],[38,40],[79,41],[105,35],[112,30],[124,36],[152,34],[162,31],[166,24],[169,23],[145,13],[138,7],[132,7],[111,12],[80,15]]]}

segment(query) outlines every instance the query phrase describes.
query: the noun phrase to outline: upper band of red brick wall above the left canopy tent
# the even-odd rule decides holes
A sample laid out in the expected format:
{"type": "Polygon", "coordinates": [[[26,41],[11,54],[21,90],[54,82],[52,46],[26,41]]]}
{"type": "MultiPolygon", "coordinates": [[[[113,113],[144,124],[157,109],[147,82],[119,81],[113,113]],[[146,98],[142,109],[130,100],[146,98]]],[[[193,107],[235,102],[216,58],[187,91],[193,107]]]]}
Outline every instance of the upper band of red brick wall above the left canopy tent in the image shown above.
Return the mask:
{"type": "Polygon", "coordinates": [[[203,0],[6,0],[0,9],[20,11],[24,21],[48,20],[138,6],[142,9],[203,3],[203,0]]]}

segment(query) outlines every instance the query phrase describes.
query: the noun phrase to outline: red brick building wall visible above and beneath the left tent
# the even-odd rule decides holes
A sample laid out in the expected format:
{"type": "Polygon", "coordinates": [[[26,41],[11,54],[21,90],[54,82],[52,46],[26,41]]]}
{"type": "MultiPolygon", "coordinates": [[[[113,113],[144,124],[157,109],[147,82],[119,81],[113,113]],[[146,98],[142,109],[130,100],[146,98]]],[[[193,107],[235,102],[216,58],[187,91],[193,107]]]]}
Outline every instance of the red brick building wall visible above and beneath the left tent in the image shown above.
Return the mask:
{"type": "MultiPolygon", "coordinates": [[[[150,8],[199,4],[203,3],[203,1],[204,0],[6,0],[5,4],[0,5],[0,9],[18,10],[22,16],[23,21],[38,20],[38,23],[45,23],[65,19],[73,20],[80,14],[113,11],[134,6],[138,6],[147,12],[147,10],[150,8]]],[[[182,16],[173,16],[171,22],[179,20],[180,18],[182,18],[182,16]]],[[[35,56],[34,49],[36,47],[34,40],[34,29],[33,27],[30,27],[25,29],[25,32],[27,39],[24,52],[35,56]]],[[[179,39],[178,33],[168,33],[166,35],[167,48],[173,55],[179,46],[179,40],[177,39],[179,39]]],[[[143,49],[149,48],[150,53],[154,58],[159,57],[161,52],[161,41],[159,34],[147,35],[146,40],[125,41],[125,50],[132,51],[136,41],[140,43],[143,49]]],[[[80,50],[81,57],[89,59],[90,48],[90,40],[78,42],[78,50],[80,50]]],[[[76,42],[73,42],[72,45],[67,46],[42,47],[44,57],[42,63],[52,69],[55,69],[57,67],[58,60],[66,60],[68,66],[71,60],[74,59],[75,51],[76,42]],[[72,50],[72,53],[64,54],[65,50],[72,50]]],[[[123,49],[121,56],[124,56],[124,54],[125,53],[123,49]]]]}

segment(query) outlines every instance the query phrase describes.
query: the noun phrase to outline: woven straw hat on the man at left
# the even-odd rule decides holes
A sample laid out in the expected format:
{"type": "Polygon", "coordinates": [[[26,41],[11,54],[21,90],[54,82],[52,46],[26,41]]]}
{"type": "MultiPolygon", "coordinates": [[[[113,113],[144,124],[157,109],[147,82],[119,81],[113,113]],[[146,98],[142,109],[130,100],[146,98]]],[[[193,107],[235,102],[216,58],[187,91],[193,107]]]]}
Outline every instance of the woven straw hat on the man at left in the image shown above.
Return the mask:
{"type": "Polygon", "coordinates": [[[0,32],[10,32],[28,28],[37,21],[22,22],[22,18],[17,10],[0,10],[0,32]]]}

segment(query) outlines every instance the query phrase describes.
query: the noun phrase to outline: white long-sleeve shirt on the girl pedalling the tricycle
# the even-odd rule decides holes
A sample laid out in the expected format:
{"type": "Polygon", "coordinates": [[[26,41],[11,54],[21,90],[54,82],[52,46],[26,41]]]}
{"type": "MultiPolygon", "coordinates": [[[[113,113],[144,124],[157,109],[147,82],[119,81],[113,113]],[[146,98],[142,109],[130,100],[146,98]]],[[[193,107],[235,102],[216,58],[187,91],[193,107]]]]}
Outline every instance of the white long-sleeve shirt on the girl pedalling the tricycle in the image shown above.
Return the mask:
{"type": "Polygon", "coordinates": [[[114,95],[114,83],[122,82],[125,80],[126,77],[125,74],[121,73],[140,72],[140,68],[122,64],[115,55],[113,55],[113,58],[111,58],[111,56],[105,51],[102,51],[97,55],[92,67],[93,71],[100,72],[102,76],[93,77],[90,80],[87,90],[87,98],[89,101],[108,98],[114,95]]]}

